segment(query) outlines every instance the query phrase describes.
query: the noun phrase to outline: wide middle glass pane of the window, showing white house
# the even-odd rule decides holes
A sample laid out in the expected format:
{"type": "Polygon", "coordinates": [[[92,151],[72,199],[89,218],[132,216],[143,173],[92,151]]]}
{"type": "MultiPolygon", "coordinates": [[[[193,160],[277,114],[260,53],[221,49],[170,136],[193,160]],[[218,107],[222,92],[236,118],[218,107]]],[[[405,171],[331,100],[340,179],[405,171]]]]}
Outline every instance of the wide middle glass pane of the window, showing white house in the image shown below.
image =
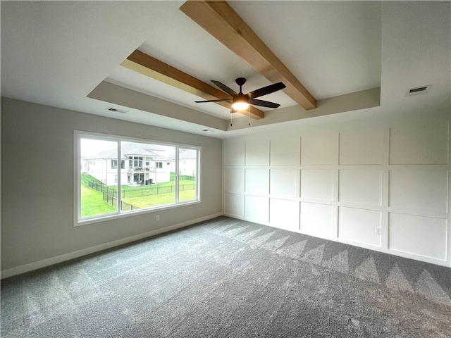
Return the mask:
{"type": "Polygon", "coordinates": [[[121,211],[175,204],[175,146],[121,142],[121,154],[121,211]]]}

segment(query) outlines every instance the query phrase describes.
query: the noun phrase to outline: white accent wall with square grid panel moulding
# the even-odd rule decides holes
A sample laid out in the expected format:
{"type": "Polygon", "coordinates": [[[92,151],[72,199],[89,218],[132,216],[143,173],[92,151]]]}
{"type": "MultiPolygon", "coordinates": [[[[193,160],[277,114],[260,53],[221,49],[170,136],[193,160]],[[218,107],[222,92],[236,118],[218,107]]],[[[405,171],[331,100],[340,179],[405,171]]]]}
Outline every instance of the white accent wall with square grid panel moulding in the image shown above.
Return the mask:
{"type": "Polygon", "coordinates": [[[449,115],[223,142],[231,217],[451,266],[449,115]]]}

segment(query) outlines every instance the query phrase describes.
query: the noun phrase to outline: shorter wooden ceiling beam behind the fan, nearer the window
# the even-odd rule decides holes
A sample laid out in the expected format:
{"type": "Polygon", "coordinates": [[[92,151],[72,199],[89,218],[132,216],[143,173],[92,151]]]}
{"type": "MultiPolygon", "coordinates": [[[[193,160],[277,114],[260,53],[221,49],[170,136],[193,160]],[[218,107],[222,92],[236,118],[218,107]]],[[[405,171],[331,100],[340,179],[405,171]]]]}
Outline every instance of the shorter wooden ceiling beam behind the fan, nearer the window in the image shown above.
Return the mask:
{"type": "MultiPolygon", "coordinates": [[[[215,100],[227,99],[229,97],[232,99],[232,96],[222,90],[206,84],[187,73],[183,73],[181,70],[159,61],[152,56],[144,54],[142,51],[134,51],[121,65],[142,75],[152,77],[155,80],[171,84],[171,86],[182,89],[185,92],[202,97],[202,99],[215,100]]],[[[217,102],[216,104],[220,104],[228,109],[232,106],[228,102],[217,102]]],[[[264,118],[264,112],[253,106],[250,107],[249,113],[250,117],[256,120],[264,118]]],[[[247,112],[243,112],[242,114],[247,115],[247,112]]]]}

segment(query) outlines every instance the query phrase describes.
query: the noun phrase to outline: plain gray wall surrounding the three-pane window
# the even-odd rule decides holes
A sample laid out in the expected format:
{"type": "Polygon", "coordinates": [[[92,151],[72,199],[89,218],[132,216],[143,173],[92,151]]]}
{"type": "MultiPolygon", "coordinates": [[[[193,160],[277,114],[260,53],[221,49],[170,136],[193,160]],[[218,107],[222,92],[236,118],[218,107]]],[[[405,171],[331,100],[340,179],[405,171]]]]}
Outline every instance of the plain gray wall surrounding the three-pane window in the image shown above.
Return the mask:
{"type": "Polygon", "coordinates": [[[221,214],[221,154],[221,139],[2,98],[2,277],[221,214]],[[202,203],[74,227],[74,130],[202,146],[202,203]]]}

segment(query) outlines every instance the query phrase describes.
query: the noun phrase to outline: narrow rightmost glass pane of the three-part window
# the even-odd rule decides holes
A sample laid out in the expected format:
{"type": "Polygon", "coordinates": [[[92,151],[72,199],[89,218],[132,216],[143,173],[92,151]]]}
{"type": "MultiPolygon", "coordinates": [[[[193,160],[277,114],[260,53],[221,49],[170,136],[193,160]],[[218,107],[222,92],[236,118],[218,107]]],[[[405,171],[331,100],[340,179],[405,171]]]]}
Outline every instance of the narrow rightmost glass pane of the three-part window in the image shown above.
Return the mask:
{"type": "Polygon", "coordinates": [[[178,201],[197,200],[197,150],[178,149],[178,201]]]}

